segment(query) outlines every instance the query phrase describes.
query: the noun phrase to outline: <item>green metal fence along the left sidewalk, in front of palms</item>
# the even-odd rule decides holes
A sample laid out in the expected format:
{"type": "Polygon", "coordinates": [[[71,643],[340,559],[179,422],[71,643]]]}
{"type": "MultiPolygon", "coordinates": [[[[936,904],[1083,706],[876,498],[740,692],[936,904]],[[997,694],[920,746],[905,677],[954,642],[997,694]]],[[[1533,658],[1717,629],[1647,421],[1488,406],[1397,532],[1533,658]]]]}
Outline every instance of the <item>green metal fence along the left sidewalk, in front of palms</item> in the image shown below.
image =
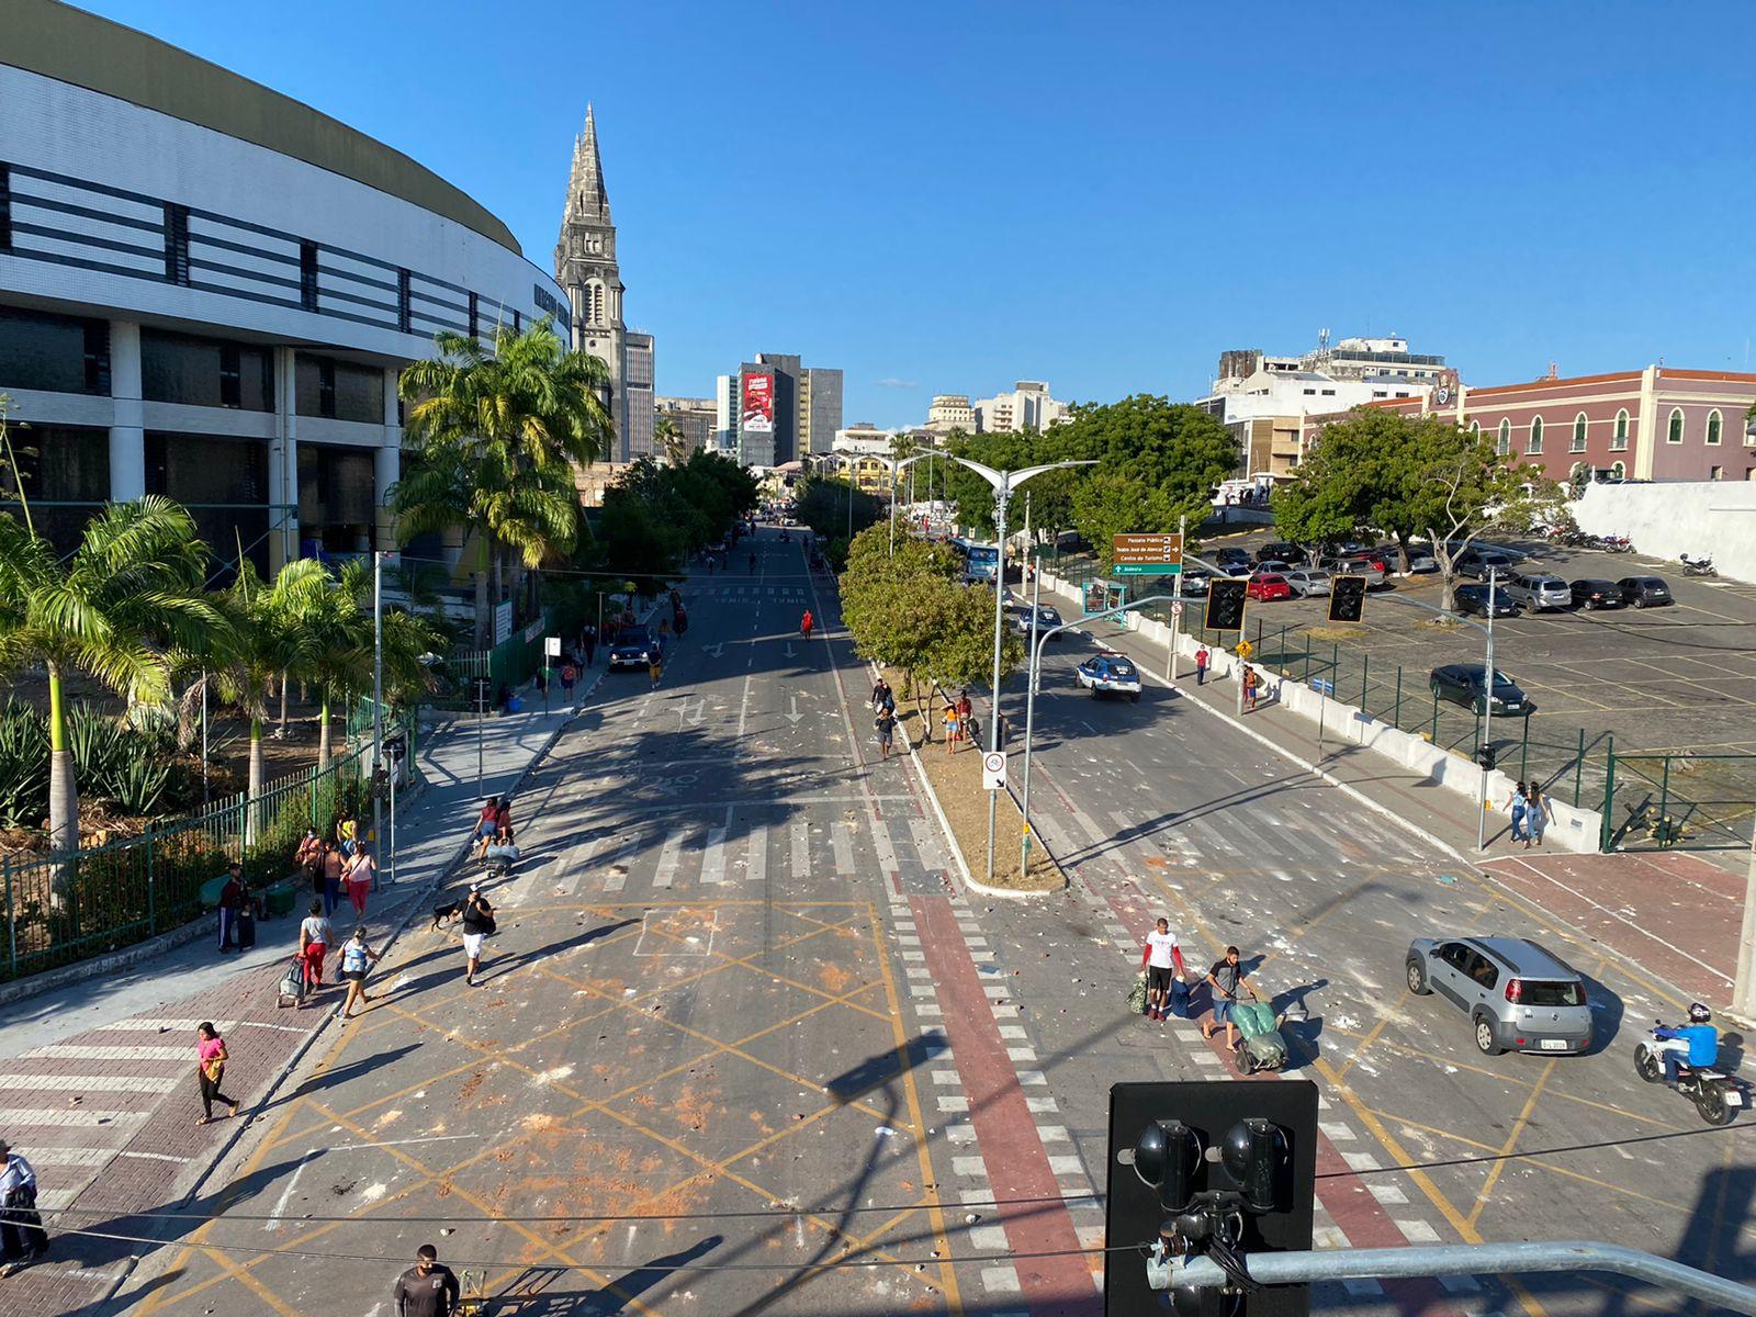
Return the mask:
{"type": "MultiPolygon", "coordinates": [[[[414,715],[386,727],[414,746],[414,715]]],[[[407,755],[414,773],[414,755],[407,755]]],[[[291,871],[293,850],[307,827],[328,836],[346,808],[369,810],[371,746],[327,767],[276,778],[255,797],[216,801],[195,815],[155,824],[139,838],[65,855],[0,859],[5,892],[5,945],[0,980],[144,941],[200,913],[202,887],[232,860],[258,890],[291,871]]]]}

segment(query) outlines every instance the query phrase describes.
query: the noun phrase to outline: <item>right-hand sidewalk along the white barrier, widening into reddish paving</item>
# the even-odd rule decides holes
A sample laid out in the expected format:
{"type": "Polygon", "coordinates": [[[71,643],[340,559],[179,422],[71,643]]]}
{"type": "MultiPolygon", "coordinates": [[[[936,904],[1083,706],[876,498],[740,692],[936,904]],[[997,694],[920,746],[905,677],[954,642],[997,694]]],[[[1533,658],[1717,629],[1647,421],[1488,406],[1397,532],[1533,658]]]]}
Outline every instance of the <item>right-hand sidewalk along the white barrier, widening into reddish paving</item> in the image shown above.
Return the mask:
{"type": "MultiPolygon", "coordinates": [[[[1162,644],[1138,636],[1106,637],[1105,644],[1127,653],[1159,685],[1171,685],[1162,676],[1162,644]]],[[[1526,850],[1508,839],[1508,820],[1500,811],[1489,815],[1487,848],[1479,852],[1477,811],[1468,797],[1387,755],[1340,743],[1333,734],[1319,748],[1317,723],[1278,704],[1259,704],[1240,718],[1236,681],[1210,676],[1198,687],[1187,657],[1182,669],[1175,683],[1180,697],[1322,774],[1363,808],[1394,817],[1459,864],[1491,874],[1529,904],[1673,985],[1684,999],[1730,1003],[1744,910],[1742,876],[1682,852],[1573,855],[1526,850]]]]}

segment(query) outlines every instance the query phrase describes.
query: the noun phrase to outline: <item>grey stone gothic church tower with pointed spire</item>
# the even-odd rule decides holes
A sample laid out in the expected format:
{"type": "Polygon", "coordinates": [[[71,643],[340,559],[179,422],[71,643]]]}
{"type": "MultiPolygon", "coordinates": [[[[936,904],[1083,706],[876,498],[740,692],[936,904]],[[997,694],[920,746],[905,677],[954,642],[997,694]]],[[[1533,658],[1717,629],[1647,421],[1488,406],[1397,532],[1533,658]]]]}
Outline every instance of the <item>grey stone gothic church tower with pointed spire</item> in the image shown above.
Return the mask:
{"type": "Polygon", "coordinates": [[[616,270],[616,225],[609,218],[604,165],[597,158],[597,123],[585,107],[585,132],[572,144],[567,209],[555,244],[555,281],[572,304],[572,346],[609,367],[609,414],[616,437],[606,457],[629,460],[629,348],[616,270]]]}

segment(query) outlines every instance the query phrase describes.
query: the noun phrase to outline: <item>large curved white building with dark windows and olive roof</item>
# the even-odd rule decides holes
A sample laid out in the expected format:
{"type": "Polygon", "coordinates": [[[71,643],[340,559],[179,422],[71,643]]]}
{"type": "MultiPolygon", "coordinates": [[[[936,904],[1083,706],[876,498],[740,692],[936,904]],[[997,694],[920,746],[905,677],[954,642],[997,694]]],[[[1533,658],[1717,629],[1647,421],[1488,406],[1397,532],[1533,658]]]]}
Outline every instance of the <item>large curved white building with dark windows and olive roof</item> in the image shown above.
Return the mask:
{"type": "Polygon", "coordinates": [[[562,288],[393,148],[79,9],[5,9],[0,392],[39,529],[163,493],[265,571],[392,546],[399,371],[437,330],[565,327],[562,288]]]}

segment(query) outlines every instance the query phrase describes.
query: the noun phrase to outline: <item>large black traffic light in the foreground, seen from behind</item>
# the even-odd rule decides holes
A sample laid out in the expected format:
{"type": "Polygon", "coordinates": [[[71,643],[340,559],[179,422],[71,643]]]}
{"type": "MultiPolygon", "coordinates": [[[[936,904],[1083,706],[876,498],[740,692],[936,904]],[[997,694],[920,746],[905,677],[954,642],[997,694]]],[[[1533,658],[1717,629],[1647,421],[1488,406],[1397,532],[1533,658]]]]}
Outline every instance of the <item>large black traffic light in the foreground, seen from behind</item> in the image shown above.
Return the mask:
{"type": "Polygon", "coordinates": [[[1182,1317],[1303,1317],[1308,1285],[1257,1285],[1250,1257],[1312,1247],[1317,1085],[1310,1080],[1110,1087],[1106,1317],[1162,1317],[1173,1259],[1212,1257],[1212,1289],[1171,1289],[1182,1317]],[[1126,1169],[1133,1168],[1133,1175],[1126,1169]]]}

